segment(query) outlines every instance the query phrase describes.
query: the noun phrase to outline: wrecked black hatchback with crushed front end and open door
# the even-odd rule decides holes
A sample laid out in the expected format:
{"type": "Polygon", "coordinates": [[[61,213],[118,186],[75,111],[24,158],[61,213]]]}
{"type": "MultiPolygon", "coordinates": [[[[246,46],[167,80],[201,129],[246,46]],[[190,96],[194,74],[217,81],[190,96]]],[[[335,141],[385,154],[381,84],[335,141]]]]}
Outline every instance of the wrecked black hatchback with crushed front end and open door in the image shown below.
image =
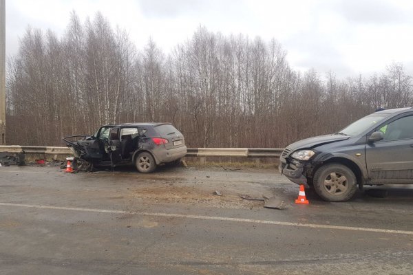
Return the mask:
{"type": "Polygon", "coordinates": [[[101,126],[94,135],[63,140],[74,156],[92,166],[134,164],[140,173],[180,161],[187,154],[184,136],[169,123],[127,123],[101,126]]]}

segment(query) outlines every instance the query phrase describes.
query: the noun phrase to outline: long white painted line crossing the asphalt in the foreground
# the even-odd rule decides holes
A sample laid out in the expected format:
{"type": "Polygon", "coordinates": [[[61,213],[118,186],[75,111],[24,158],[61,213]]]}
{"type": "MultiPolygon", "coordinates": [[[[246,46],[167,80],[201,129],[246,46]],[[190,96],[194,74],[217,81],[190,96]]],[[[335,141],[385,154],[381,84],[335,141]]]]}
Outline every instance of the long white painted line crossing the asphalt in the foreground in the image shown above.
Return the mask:
{"type": "Polygon", "coordinates": [[[214,221],[234,221],[234,222],[240,222],[240,223],[262,223],[262,224],[269,224],[269,225],[297,226],[297,227],[301,227],[301,228],[322,228],[322,229],[352,230],[352,231],[363,231],[363,232],[377,232],[377,233],[413,235],[413,231],[405,231],[405,230],[392,230],[392,229],[381,229],[381,228],[357,228],[357,227],[352,227],[352,226],[324,225],[324,224],[312,224],[312,223],[290,223],[288,221],[266,221],[266,220],[260,220],[260,219],[238,219],[238,218],[229,218],[229,217],[200,216],[200,215],[192,215],[192,214],[134,212],[134,211],[125,211],[125,210],[105,210],[105,209],[74,208],[74,207],[61,207],[61,206],[39,206],[39,205],[32,205],[32,204],[2,203],[2,202],[0,202],[0,206],[39,208],[39,209],[52,209],[52,210],[69,210],[69,211],[81,211],[81,212],[98,212],[98,213],[109,213],[109,214],[136,214],[136,215],[152,216],[152,217],[174,217],[174,218],[183,218],[183,219],[207,219],[207,220],[214,220],[214,221]]]}

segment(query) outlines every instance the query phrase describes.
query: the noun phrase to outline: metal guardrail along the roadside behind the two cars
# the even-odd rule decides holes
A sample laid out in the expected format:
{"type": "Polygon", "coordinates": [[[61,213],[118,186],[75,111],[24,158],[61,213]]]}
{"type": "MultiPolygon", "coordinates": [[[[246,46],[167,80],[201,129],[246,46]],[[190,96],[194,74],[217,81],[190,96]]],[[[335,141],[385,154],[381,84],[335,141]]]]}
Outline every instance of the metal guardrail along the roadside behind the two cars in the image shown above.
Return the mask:
{"type": "MultiPolygon", "coordinates": [[[[187,157],[279,157],[284,148],[188,148],[187,157]]],[[[0,152],[72,155],[68,147],[55,146],[0,146],[0,152]]]]}

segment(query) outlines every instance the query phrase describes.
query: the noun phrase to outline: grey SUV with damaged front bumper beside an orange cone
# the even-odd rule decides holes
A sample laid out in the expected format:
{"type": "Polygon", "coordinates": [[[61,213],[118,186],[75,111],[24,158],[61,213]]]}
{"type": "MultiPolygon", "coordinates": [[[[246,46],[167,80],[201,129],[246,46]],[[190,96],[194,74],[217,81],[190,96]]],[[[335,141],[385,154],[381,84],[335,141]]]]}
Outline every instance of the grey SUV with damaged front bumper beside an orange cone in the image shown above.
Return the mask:
{"type": "Polygon", "coordinates": [[[326,201],[347,201],[357,184],[413,184],[413,108],[378,111],[339,133],[290,144],[279,171],[326,201]]]}

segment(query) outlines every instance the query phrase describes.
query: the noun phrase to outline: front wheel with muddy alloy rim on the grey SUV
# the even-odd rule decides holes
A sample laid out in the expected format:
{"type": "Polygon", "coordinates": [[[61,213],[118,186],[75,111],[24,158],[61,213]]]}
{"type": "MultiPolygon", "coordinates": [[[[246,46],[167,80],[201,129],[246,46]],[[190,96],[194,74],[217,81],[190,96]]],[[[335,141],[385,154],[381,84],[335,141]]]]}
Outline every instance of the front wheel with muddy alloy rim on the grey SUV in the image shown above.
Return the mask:
{"type": "Polygon", "coordinates": [[[348,201],[357,191],[352,170],[342,164],[321,166],[313,177],[315,192],[325,201],[348,201]]]}

